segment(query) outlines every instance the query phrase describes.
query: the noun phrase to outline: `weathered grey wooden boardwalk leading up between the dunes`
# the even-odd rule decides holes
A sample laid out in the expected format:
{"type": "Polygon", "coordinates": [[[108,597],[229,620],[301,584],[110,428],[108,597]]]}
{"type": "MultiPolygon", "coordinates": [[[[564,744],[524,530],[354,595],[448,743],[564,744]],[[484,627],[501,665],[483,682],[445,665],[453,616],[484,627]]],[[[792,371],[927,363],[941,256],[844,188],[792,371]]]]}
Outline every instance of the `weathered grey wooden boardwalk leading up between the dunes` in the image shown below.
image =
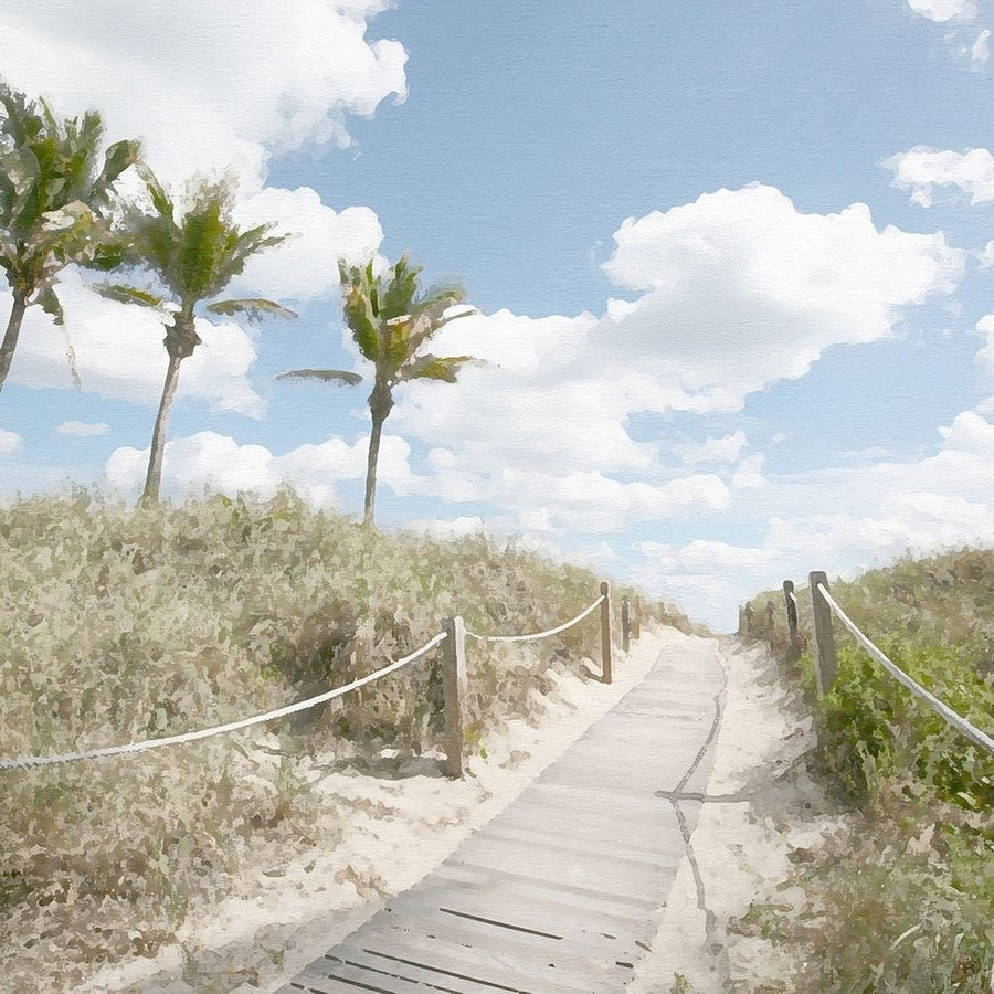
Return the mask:
{"type": "MultiPolygon", "coordinates": [[[[509,807],[277,994],[622,991],[685,854],[656,792],[707,784],[713,645],[660,655],[509,807]]],[[[699,803],[680,808],[692,831],[699,803]]]]}

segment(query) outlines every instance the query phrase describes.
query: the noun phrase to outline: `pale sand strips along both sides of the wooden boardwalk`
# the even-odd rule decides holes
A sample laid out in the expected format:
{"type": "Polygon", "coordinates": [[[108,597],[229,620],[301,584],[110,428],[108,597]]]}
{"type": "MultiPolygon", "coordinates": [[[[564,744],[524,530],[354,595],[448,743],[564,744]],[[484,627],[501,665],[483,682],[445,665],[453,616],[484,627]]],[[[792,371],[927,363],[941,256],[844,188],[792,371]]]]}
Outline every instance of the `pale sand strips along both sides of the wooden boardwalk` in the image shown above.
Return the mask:
{"type": "MultiPolygon", "coordinates": [[[[579,675],[560,677],[537,723],[512,722],[487,741],[487,758],[470,758],[462,782],[329,773],[318,761],[316,787],[339,825],[345,822],[336,848],[303,855],[261,850],[232,897],[220,907],[195,909],[178,942],[152,960],[105,969],[78,990],[275,990],[506,807],[642,680],[662,651],[687,649],[692,638],[673,628],[645,631],[618,660],[610,687],[579,675]]],[[[721,985],[729,977],[745,991],[758,976],[789,971],[765,943],[729,934],[727,922],[786,876],[790,846],[810,845],[822,831],[812,817],[821,810],[817,792],[790,773],[792,761],[811,745],[810,721],[797,720],[761,649],[722,642],[719,655],[728,683],[704,793],[743,800],[702,805],[672,899],[660,909],[653,952],[635,971],[631,990],[642,994],[668,992],[676,974],[690,990],[728,990],[721,985]]]]}

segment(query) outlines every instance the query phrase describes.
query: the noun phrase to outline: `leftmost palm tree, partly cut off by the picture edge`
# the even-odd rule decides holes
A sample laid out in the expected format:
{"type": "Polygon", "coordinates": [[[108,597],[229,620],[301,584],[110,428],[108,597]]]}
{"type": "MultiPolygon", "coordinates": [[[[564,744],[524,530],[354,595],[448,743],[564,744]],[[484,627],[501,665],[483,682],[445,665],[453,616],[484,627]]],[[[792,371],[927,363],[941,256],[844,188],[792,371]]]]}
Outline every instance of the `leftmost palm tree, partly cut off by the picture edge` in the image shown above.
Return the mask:
{"type": "Polygon", "coordinates": [[[13,297],[0,345],[0,390],[27,309],[38,304],[64,324],[59,273],[71,263],[101,261],[107,231],[101,212],[138,158],[137,141],[118,141],[98,169],[99,114],[59,120],[43,99],[39,104],[0,83],[0,267],[13,297]]]}

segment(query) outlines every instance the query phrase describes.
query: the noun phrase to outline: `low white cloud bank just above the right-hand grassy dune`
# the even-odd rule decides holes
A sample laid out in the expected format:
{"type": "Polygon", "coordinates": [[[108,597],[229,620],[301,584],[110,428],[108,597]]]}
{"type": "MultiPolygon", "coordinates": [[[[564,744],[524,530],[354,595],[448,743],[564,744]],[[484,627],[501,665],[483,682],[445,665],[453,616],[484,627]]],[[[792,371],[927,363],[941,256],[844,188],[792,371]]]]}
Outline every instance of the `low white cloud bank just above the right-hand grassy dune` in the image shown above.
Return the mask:
{"type": "Polygon", "coordinates": [[[917,462],[766,480],[760,543],[643,542],[635,575],[728,631],[736,604],[784,579],[802,584],[816,569],[854,575],[907,551],[988,543],[994,424],[965,411],[940,438],[935,453],[917,462]]]}

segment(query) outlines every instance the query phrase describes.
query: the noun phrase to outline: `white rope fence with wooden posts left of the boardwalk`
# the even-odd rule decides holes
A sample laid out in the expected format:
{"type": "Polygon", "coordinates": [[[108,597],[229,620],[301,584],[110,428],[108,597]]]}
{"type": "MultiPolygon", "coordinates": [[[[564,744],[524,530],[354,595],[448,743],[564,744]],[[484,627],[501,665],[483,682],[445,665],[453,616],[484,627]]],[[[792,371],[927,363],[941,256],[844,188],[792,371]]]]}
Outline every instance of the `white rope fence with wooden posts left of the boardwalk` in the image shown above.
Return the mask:
{"type": "MultiPolygon", "coordinates": [[[[464,743],[464,713],[466,710],[465,702],[468,696],[468,679],[466,673],[466,638],[474,638],[478,642],[494,643],[516,643],[516,642],[537,642],[542,638],[550,638],[559,635],[574,625],[582,622],[592,614],[598,607],[601,609],[601,680],[605,684],[612,683],[612,632],[611,632],[611,598],[606,583],[601,584],[600,596],[580,614],[549,628],[544,632],[536,632],[526,635],[480,635],[476,632],[468,632],[463,618],[459,616],[448,617],[442,624],[442,631],[426,642],[421,648],[415,649],[402,659],[390,662],[374,673],[359,677],[334,690],[327,690],[306,700],[287,705],[272,711],[261,715],[253,715],[250,718],[243,718],[240,721],[231,721],[226,725],[218,725],[212,728],[204,728],[198,731],[184,732],[177,736],[168,736],[159,739],[146,739],[140,742],[129,742],[124,745],[107,745],[99,749],[81,750],[77,752],[65,752],[59,755],[22,755],[11,759],[0,758],[0,771],[3,770],[27,770],[38,766],[51,766],[62,763],[71,763],[80,760],[97,760],[106,759],[114,755],[126,755],[138,752],[147,752],[151,749],[161,749],[166,745],[180,745],[187,742],[195,742],[201,739],[213,738],[214,736],[225,734],[226,732],[239,731],[241,729],[251,728],[272,721],[277,718],[285,718],[288,715],[297,713],[309,708],[317,707],[320,704],[335,700],[352,690],[358,690],[368,684],[373,683],[382,677],[389,676],[403,669],[405,666],[421,659],[434,648],[441,646],[443,654],[442,666],[442,689],[443,689],[443,710],[445,715],[444,748],[446,753],[446,772],[451,776],[462,776],[464,773],[463,763],[463,743],[464,743]]],[[[631,623],[628,618],[627,598],[624,599],[622,611],[622,635],[623,646],[627,651],[628,637],[631,633],[631,623]]],[[[636,633],[637,636],[637,633],[636,633]]]]}

